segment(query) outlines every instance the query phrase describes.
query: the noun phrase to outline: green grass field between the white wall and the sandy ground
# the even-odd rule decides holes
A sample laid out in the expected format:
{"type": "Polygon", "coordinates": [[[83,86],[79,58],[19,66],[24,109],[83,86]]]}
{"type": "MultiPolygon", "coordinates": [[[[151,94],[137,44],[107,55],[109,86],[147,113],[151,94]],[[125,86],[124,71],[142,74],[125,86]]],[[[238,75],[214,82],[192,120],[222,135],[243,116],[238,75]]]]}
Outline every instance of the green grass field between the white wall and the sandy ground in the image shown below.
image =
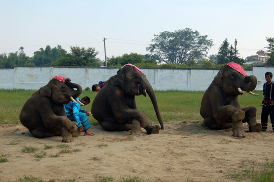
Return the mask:
{"type": "MultiPolygon", "coordinates": [[[[0,89],[0,125],[2,124],[20,124],[19,114],[20,111],[29,97],[35,90],[5,90],[0,89]]],[[[249,94],[239,96],[239,101],[242,107],[254,106],[257,108],[257,120],[261,115],[261,101],[262,91],[254,91],[258,97],[249,94]]],[[[200,104],[204,92],[186,92],[178,90],[155,91],[159,110],[164,123],[176,123],[181,121],[199,121],[202,122],[203,118],[200,116],[200,104]]],[[[80,97],[88,96],[92,101],[97,95],[97,92],[91,90],[83,90],[80,97]]],[[[138,96],[136,98],[136,105],[138,109],[146,112],[147,117],[154,123],[158,123],[155,115],[153,105],[149,96],[138,96]]],[[[83,106],[82,109],[90,111],[92,107],[90,104],[83,106]]],[[[89,121],[97,125],[98,122],[89,116],[89,121]]]]}

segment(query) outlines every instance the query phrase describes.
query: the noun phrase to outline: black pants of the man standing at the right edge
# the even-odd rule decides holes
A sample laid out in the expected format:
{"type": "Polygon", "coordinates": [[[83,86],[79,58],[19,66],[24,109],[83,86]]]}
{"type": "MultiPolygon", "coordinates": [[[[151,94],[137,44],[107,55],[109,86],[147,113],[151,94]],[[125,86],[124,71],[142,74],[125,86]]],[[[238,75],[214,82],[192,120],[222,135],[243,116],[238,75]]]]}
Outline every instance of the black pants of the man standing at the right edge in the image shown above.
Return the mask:
{"type": "Polygon", "coordinates": [[[272,105],[272,103],[263,102],[262,114],[261,114],[262,130],[267,129],[268,116],[270,116],[272,129],[274,130],[274,103],[272,105]]]}

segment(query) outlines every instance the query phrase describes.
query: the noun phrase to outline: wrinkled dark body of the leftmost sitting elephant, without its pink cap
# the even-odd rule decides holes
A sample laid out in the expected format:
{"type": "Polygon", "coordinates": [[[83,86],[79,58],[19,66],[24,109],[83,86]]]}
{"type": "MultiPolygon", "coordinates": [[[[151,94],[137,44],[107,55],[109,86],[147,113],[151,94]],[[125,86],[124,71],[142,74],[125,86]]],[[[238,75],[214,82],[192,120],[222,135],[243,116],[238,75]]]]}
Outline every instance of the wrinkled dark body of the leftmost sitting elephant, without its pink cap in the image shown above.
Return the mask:
{"type": "Polygon", "coordinates": [[[62,135],[62,142],[72,142],[80,132],[67,118],[64,104],[71,101],[71,96],[75,99],[81,93],[82,87],[71,83],[69,78],[65,82],[52,79],[26,101],[20,121],[35,138],[62,135]]]}

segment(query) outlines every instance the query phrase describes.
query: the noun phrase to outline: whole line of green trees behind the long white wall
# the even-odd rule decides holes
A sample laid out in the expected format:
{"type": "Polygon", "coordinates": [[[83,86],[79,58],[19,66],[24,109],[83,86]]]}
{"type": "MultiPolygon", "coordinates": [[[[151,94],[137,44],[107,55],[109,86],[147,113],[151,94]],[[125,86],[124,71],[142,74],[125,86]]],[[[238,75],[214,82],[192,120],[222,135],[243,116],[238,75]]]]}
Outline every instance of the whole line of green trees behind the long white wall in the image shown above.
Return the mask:
{"type": "MultiPolygon", "coordinates": [[[[274,65],[274,38],[266,37],[268,42],[268,56],[265,65],[274,65]]],[[[225,38],[220,45],[217,55],[207,57],[208,50],[213,46],[213,41],[207,35],[200,35],[196,30],[185,28],[174,32],[160,32],[147,51],[150,54],[137,53],[123,54],[122,56],[107,58],[109,67],[120,67],[131,63],[139,67],[159,68],[220,68],[223,64],[236,62],[243,65],[246,60],[239,57],[237,39],[230,44],[225,38]]],[[[40,48],[34,52],[33,57],[28,57],[21,47],[15,53],[0,55],[0,68],[13,68],[16,66],[80,66],[100,67],[105,66],[96,56],[99,54],[95,48],[70,47],[70,52],[62,49],[61,45],[45,49],[40,48]]],[[[248,66],[244,66],[248,68],[248,66]]]]}

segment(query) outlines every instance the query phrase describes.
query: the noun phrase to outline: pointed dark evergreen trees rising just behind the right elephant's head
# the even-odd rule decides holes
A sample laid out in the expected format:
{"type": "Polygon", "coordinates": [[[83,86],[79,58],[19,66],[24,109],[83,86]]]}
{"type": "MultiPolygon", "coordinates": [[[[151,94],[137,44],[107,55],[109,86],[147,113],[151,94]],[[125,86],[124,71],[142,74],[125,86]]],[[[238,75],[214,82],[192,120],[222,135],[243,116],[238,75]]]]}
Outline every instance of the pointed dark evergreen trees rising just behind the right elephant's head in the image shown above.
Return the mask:
{"type": "Polygon", "coordinates": [[[224,39],[224,41],[221,44],[221,47],[219,48],[217,60],[218,64],[226,64],[229,62],[235,62],[238,64],[243,64],[244,59],[239,58],[239,53],[237,50],[237,39],[235,39],[234,47],[233,45],[230,46],[230,43],[227,41],[227,38],[224,39]]]}

